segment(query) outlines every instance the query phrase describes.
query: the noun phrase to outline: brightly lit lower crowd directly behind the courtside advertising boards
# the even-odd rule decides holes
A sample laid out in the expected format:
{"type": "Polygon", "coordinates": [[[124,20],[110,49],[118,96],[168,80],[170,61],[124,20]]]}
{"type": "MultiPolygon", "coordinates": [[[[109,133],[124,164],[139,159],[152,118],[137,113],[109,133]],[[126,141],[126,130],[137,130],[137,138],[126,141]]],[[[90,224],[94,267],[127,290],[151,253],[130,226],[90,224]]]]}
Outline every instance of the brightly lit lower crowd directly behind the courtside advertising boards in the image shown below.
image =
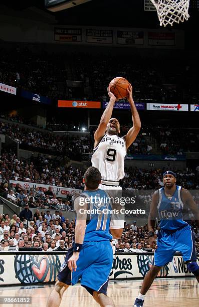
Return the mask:
{"type": "MultiPolygon", "coordinates": [[[[157,225],[155,238],[158,237],[160,227],[157,225]]],[[[35,210],[32,214],[26,205],[20,216],[14,214],[0,214],[0,251],[17,251],[20,248],[36,247],[42,251],[67,251],[72,247],[75,232],[75,220],[65,219],[62,211],[35,210]]],[[[195,248],[199,252],[199,232],[194,227],[195,248]]],[[[151,251],[148,239],[148,226],[137,226],[124,223],[121,239],[114,240],[117,252],[146,252],[151,251]]],[[[153,251],[153,250],[152,250],[153,251]]]]}

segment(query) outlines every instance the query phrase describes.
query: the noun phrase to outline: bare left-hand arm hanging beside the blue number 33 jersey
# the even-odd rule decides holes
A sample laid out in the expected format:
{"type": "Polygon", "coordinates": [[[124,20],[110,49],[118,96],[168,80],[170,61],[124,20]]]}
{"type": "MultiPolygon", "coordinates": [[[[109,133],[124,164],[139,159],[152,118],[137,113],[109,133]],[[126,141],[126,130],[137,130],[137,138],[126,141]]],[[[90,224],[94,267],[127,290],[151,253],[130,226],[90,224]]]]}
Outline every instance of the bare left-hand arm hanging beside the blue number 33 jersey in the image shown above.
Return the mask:
{"type": "Polygon", "coordinates": [[[158,191],[155,191],[152,196],[152,202],[150,206],[150,212],[148,215],[148,236],[151,248],[155,248],[156,242],[154,238],[155,220],[157,217],[157,204],[159,201],[158,191]]]}

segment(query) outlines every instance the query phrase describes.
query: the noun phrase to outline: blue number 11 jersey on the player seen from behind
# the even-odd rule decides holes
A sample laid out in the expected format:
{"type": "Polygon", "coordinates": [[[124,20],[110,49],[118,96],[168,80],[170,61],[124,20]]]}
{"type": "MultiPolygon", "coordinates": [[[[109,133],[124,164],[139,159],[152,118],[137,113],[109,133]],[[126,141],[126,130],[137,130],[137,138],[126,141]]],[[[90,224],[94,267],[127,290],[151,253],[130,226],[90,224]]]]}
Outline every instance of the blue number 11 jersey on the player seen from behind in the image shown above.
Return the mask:
{"type": "Polygon", "coordinates": [[[104,190],[85,191],[80,197],[90,199],[87,208],[87,225],[84,242],[88,241],[106,241],[113,237],[109,233],[111,221],[111,202],[110,197],[104,190]]]}

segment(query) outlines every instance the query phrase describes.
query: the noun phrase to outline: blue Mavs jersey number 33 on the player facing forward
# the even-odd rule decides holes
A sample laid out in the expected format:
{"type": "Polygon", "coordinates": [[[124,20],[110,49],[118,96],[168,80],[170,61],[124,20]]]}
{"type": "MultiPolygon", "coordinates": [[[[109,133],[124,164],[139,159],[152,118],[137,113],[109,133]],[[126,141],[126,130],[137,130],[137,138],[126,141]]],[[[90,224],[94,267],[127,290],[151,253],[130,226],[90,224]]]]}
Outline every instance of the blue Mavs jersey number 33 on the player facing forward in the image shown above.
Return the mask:
{"type": "Polygon", "coordinates": [[[172,197],[166,197],[164,187],[159,189],[159,203],[157,206],[160,228],[175,230],[187,226],[182,219],[183,203],[180,197],[180,186],[176,186],[175,193],[172,197]]]}

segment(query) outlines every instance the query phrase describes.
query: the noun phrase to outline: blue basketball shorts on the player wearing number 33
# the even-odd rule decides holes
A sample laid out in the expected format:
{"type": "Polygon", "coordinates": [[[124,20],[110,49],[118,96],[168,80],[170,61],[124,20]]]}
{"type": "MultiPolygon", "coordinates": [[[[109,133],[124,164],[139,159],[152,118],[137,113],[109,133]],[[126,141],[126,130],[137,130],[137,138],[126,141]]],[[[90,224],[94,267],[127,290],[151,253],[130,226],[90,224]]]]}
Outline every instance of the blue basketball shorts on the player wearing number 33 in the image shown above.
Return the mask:
{"type": "Polygon", "coordinates": [[[194,237],[190,225],[177,230],[160,230],[153,265],[163,266],[171,262],[176,251],[182,254],[184,261],[196,260],[194,237]]]}

